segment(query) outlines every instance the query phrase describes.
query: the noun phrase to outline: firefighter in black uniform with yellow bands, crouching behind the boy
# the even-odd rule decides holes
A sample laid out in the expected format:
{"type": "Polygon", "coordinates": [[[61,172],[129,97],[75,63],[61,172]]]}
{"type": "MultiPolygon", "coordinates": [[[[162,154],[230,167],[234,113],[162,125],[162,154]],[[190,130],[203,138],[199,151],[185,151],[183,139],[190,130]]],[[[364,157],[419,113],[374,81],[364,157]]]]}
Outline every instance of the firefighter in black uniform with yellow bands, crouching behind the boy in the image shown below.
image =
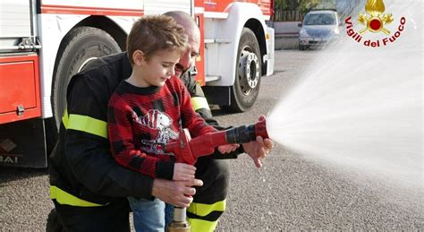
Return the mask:
{"type": "MultiPolygon", "coordinates": [[[[186,13],[168,13],[178,21],[190,39],[190,48],[175,67],[191,92],[192,105],[211,125],[208,103],[193,79],[193,61],[199,55],[199,28],[186,13]]],[[[106,131],[107,102],[116,86],[131,74],[126,53],[105,56],[88,64],[72,77],[67,90],[67,108],[59,131],[59,141],[50,156],[50,196],[57,218],[69,231],[129,231],[127,196],[158,199],[189,207],[193,231],[211,231],[225,210],[228,167],[218,153],[199,159],[197,177],[190,185],[152,179],[118,165],[109,153],[106,131]],[[191,186],[201,186],[195,189],[191,186]],[[198,193],[196,193],[198,192],[198,193]]],[[[260,158],[273,146],[269,139],[242,144],[226,155],[236,158],[243,149],[260,167],[260,158]]]]}

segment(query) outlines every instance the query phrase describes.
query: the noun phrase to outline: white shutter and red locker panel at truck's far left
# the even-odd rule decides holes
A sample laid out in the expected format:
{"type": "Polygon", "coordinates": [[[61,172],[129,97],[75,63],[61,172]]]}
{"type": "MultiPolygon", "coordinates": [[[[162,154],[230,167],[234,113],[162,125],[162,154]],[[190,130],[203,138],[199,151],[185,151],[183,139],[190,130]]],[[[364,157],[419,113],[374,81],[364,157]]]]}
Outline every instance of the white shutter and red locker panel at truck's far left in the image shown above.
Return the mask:
{"type": "Polygon", "coordinates": [[[41,116],[34,6],[0,2],[0,125],[41,116]]]}

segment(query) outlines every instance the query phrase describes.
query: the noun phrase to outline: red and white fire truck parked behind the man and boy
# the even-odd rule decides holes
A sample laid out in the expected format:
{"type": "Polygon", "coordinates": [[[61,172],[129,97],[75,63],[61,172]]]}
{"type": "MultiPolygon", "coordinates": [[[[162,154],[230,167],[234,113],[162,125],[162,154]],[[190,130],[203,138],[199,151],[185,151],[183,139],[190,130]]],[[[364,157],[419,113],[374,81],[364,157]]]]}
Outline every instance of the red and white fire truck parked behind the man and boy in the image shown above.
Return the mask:
{"type": "Polygon", "coordinates": [[[274,72],[272,0],[1,0],[0,165],[47,167],[72,75],[123,51],[140,16],[174,10],[199,25],[197,81],[209,104],[250,109],[274,72]]]}

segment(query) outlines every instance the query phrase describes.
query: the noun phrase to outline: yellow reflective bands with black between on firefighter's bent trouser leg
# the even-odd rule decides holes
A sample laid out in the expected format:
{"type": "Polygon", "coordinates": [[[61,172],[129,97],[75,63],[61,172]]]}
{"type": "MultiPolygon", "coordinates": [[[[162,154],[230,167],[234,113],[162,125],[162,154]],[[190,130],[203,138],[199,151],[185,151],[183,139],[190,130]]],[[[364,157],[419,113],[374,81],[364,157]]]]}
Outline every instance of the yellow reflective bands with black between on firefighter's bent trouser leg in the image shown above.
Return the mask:
{"type": "Polygon", "coordinates": [[[187,209],[191,231],[214,231],[218,219],[225,211],[225,200],[214,204],[192,202],[187,209]]]}

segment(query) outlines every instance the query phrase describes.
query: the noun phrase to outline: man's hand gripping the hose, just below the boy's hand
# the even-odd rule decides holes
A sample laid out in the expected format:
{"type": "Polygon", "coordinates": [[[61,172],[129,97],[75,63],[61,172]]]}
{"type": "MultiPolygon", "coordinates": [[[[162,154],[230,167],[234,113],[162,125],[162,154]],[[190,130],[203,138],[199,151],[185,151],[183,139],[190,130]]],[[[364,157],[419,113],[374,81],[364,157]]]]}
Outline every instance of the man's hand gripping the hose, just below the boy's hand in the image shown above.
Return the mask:
{"type": "Polygon", "coordinates": [[[152,195],[163,202],[187,208],[193,201],[192,195],[196,193],[196,189],[192,186],[201,185],[203,182],[199,179],[171,181],[157,178],[153,181],[152,195]]]}

